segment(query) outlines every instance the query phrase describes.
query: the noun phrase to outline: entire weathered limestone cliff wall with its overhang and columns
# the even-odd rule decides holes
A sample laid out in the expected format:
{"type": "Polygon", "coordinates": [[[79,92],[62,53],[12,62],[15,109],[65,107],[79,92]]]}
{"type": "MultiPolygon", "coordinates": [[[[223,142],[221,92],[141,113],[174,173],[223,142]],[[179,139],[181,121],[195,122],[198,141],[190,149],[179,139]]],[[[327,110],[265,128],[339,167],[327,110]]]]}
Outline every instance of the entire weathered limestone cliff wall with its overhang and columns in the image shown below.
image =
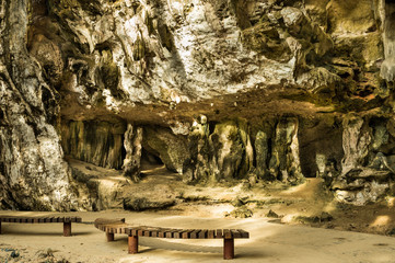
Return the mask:
{"type": "Polygon", "coordinates": [[[391,0],[3,0],[0,207],[97,208],[65,157],[137,182],[144,152],[185,182],[324,176],[340,202],[394,195],[394,13],[391,0]]]}

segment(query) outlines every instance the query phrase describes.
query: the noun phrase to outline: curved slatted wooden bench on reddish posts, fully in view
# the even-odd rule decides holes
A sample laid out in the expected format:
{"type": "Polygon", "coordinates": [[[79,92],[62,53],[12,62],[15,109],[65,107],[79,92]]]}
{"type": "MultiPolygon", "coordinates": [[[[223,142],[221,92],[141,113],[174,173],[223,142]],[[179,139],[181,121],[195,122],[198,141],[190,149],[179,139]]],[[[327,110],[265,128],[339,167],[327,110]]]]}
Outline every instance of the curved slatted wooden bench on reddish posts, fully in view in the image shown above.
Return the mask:
{"type": "Polygon", "coordinates": [[[223,239],[223,259],[234,259],[234,239],[247,239],[249,233],[242,229],[175,229],[131,226],[123,219],[97,218],[94,226],[106,233],[107,241],[114,241],[114,233],[128,235],[129,254],[138,253],[139,237],[170,239],[223,239]]]}

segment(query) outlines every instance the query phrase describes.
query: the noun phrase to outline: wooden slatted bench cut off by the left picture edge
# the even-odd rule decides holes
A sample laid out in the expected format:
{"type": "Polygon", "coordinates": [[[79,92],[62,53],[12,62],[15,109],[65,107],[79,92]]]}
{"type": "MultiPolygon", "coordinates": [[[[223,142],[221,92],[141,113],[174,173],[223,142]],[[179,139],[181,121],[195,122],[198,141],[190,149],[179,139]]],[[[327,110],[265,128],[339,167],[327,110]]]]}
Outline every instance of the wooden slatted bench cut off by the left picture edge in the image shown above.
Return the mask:
{"type": "Polygon", "coordinates": [[[81,222],[81,217],[24,217],[24,216],[0,216],[0,233],[1,222],[19,222],[19,224],[47,224],[62,222],[63,236],[71,236],[71,222],[81,222]]]}

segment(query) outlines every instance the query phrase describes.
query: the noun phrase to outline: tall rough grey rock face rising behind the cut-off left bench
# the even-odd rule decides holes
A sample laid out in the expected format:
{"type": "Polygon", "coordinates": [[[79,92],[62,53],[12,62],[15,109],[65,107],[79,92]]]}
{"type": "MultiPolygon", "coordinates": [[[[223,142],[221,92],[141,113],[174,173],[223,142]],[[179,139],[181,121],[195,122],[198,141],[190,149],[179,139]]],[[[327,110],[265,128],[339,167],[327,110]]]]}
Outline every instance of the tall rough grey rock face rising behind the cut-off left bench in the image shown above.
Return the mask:
{"type": "Polygon", "coordinates": [[[57,91],[26,53],[27,1],[2,1],[0,10],[0,207],[77,209],[54,127],[57,91]]]}

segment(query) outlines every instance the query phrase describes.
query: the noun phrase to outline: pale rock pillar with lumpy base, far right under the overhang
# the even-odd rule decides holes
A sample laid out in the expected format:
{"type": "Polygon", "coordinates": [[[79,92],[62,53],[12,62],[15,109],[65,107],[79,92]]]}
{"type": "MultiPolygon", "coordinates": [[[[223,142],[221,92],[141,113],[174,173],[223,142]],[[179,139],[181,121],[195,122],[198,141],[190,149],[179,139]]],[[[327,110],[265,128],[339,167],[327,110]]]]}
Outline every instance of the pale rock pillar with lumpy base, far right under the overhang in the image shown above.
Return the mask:
{"type": "Polygon", "coordinates": [[[388,144],[382,122],[377,125],[377,119],[369,124],[360,117],[345,119],[342,170],[332,184],[339,201],[364,205],[388,193],[394,170],[382,152],[370,152],[383,150],[383,145],[388,144]]]}

